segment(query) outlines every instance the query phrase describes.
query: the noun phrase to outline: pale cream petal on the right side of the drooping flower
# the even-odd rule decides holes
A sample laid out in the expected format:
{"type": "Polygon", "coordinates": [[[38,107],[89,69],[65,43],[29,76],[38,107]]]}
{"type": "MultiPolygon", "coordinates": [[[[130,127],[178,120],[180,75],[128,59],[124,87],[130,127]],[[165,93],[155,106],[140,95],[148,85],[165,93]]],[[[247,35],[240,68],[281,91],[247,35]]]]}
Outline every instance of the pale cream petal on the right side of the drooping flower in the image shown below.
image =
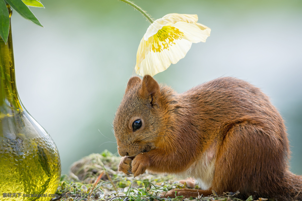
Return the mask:
{"type": "Polygon", "coordinates": [[[173,27],[178,28],[183,33],[182,38],[193,43],[206,42],[210,36],[211,29],[199,23],[177,22],[173,27]]]}

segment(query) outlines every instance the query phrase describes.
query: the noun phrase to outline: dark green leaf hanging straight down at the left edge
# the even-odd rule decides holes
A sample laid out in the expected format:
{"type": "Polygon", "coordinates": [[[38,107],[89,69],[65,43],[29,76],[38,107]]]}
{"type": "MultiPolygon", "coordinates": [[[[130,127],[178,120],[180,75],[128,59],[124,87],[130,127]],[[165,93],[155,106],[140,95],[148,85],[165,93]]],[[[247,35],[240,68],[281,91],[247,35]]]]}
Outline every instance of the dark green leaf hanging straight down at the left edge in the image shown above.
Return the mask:
{"type": "Polygon", "coordinates": [[[9,14],[4,0],[0,0],[0,36],[7,42],[9,32],[9,14]]]}

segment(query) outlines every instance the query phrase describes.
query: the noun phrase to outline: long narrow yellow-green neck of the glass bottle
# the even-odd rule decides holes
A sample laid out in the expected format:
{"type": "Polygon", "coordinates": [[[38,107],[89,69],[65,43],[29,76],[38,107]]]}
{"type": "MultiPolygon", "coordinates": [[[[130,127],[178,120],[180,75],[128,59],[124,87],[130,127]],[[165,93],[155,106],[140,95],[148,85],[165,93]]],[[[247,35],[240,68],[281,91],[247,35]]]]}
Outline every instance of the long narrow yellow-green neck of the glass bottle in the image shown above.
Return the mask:
{"type": "MultiPolygon", "coordinates": [[[[9,16],[11,8],[7,5],[9,16]]],[[[22,110],[16,88],[13,42],[11,36],[11,18],[7,43],[0,37],[0,116],[14,115],[22,110]]],[[[1,118],[1,117],[0,117],[1,118]]]]}

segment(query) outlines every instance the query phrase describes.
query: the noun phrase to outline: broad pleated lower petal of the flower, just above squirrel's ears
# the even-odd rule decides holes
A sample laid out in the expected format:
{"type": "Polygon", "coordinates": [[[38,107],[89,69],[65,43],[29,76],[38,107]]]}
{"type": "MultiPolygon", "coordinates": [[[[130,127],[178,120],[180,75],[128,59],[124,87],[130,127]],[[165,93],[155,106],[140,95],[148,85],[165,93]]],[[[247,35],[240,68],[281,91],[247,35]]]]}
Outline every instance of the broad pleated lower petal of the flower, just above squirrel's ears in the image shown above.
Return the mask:
{"type": "Polygon", "coordinates": [[[141,62],[137,62],[135,66],[136,73],[140,76],[151,75],[165,71],[170,65],[176,64],[180,59],[184,58],[192,42],[186,39],[175,40],[175,44],[169,46],[169,49],[164,49],[161,52],[149,53],[141,62]]]}

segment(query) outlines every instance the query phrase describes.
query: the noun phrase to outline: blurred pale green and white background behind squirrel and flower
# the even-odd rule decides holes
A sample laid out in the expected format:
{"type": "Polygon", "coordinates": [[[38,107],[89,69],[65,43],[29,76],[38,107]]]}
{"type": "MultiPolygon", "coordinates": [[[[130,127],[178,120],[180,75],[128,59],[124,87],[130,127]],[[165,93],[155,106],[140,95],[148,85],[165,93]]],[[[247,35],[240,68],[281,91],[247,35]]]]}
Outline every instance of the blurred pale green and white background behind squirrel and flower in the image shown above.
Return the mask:
{"type": "MultiPolygon", "coordinates": [[[[16,80],[21,101],[58,146],[62,171],[104,149],[117,152],[111,122],[149,22],[117,0],[44,0],[31,8],[44,28],[13,12],[16,80]],[[109,140],[104,136],[112,139],[109,140]]],[[[212,29],[206,43],[154,76],[184,92],[221,76],[260,87],[281,112],[291,170],[302,174],[302,2],[135,1],[157,19],[198,14],[212,29]]]]}

